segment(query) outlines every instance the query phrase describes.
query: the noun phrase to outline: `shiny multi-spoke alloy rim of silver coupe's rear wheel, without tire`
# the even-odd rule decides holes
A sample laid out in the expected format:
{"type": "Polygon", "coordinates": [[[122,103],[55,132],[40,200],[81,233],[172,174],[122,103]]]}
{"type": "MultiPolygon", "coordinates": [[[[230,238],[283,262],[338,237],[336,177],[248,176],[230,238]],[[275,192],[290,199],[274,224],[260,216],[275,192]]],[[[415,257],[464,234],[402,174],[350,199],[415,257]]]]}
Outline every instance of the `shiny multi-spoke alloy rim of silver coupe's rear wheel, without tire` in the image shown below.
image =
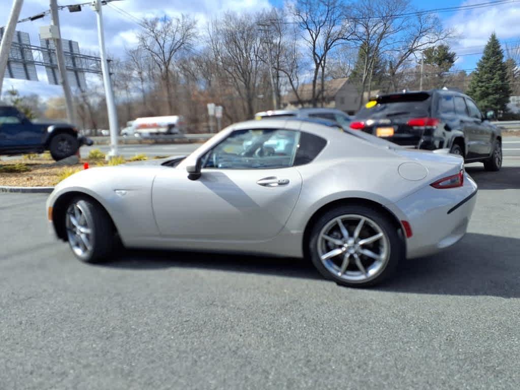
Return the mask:
{"type": "Polygon", "coordinates": [[[373,279],[385,269],[389,240],[374,220],[345,214],[330,220],[320,231],[317,250],[331,274],[348,282],[373,279]]]}

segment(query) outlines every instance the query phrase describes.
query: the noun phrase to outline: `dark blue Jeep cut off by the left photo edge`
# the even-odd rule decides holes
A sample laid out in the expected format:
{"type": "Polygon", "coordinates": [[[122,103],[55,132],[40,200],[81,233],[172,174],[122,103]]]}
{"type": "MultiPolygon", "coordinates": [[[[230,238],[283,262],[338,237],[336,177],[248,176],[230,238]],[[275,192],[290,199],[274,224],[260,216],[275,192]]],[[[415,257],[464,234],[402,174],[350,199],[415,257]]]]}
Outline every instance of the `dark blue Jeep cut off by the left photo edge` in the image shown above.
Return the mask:
{"type": "Polygon", "coordinates": [[[67,123],[39,123],[25,118],[16,107],[0,105],[0,154],[43,153],[61,160],[93,141],[78,135],[67,123]]]}

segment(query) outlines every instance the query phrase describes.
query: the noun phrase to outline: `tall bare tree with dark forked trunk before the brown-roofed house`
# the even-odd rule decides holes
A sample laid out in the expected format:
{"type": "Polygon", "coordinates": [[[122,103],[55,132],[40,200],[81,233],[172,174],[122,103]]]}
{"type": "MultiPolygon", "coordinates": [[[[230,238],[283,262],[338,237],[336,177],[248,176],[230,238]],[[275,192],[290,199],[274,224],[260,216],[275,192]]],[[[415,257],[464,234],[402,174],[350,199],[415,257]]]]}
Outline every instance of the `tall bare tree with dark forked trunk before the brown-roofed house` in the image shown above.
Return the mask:
{"type": "Polygon", "coordinates": [[[311,102],[324,101],[325,68],[329,53],[352,38],[352,29],[346,20],[347,6],[341,0],[301,0],[289,5],[289,10],[301,30],[314,62],[311,102]],[[320,93],[316,87],[321,73],[320,93]]]}

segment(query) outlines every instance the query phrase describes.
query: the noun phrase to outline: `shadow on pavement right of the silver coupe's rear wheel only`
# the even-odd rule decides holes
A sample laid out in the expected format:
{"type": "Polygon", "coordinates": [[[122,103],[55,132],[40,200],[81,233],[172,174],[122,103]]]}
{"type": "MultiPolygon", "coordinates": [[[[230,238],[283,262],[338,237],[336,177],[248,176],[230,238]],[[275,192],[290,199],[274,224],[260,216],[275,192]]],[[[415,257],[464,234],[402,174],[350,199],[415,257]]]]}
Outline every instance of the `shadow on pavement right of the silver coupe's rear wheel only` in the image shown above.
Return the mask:
{"type": "Polygon", "coordinates": [[[520,297],[520,239],[467,233],[434,256],[402,261],[379,290],[520,297]]]}

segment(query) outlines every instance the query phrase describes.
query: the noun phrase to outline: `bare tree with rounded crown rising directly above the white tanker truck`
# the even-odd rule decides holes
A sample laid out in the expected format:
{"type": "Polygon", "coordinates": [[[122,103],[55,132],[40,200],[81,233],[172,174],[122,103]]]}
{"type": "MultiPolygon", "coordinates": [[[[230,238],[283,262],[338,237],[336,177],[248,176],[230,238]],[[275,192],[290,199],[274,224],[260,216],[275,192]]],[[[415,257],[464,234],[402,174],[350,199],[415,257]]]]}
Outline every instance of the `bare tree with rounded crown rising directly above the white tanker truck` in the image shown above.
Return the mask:
{"type": "Polygon", "coordinates": [[[142,21],[138,35],[140,47],[149,53],[157,65],[164,87],[168,110],[173,112],[172,68],[176,55],[189,49],[197,36],[197,22],[182,15],[180,18],[152,18],[142,21]]]}

